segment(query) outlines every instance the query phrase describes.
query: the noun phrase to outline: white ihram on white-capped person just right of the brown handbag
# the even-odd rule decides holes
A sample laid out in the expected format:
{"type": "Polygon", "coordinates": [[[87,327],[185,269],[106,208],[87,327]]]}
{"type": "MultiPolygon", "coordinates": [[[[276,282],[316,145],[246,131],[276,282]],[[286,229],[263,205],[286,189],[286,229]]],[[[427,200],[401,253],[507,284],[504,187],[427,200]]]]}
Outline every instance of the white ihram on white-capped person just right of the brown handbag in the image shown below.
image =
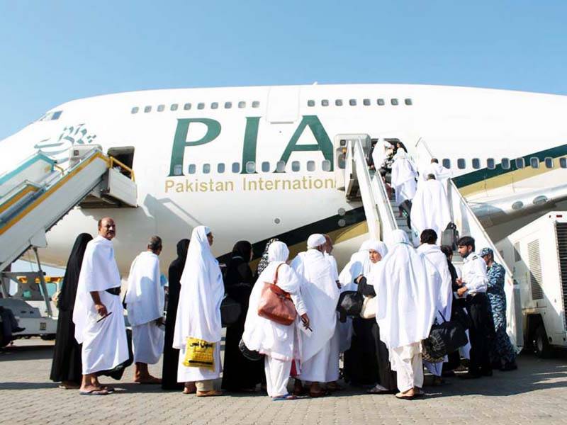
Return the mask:
{"type": "Polygon", "coordinates": [[[335,356],[339,356],[338,341],[332,338],[337,325],[339,300],[339,288],[333,279],[332,268],[325,256],[315,249],[298,254],[291,267],[303,277],[301,295],[313,329],[313,334],[305,336],[302,341],[301,379],[313,382],[337,380],[339,370],[330,370],[329,366],[330,363],[334,365],[335,356]]]}

